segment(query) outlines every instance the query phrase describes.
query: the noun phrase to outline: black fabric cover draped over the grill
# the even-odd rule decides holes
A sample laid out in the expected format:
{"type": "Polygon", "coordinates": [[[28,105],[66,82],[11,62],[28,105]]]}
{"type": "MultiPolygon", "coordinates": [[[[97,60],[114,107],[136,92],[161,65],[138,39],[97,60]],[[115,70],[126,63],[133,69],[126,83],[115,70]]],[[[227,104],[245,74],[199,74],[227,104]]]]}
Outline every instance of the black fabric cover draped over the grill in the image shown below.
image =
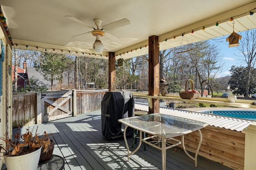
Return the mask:
{"type": "MultiPolygon", "coordinates": [[[[106,139],[122,137],[125,125],[118,119],[134,116],[134,99],[131,92],[106,92],[101,102],[102,135],[106,139]]],[[[126,136],[132,136],[128,127],[126,136]]]]}

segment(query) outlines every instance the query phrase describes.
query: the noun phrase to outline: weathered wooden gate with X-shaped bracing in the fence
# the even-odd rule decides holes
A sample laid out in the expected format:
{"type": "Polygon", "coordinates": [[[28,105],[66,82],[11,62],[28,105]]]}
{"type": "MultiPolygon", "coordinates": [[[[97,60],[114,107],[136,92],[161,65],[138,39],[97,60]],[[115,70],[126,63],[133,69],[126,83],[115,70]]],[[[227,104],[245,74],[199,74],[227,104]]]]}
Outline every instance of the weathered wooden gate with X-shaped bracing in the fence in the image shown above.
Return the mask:
{"type": "Polygon", "coordinates": [[[72,116],[72,90],[42,92],[42,121],[52,121],[72,116]]]}

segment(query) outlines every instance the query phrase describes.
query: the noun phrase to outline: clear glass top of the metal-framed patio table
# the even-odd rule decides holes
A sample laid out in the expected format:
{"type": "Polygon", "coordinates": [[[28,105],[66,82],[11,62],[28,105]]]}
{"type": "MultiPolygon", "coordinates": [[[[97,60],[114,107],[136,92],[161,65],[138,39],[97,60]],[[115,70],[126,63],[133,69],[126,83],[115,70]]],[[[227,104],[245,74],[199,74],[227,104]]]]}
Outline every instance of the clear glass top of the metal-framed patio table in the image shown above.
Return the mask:
{"type": "Polygon", "coordinates": [[[162,138],[171,138],[206,127],[208,123],[172,116],[162,113],[140,115],[118,120],[132,128],[157,135],[162,138]]]}

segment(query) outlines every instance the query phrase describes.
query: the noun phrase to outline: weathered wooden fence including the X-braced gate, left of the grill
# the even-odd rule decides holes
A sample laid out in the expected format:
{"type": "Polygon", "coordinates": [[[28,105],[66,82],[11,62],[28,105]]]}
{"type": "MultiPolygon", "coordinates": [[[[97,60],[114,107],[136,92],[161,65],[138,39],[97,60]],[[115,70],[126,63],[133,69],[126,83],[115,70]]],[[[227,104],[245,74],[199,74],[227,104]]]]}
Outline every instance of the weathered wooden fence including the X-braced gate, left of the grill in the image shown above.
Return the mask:
{"type": "Polygon", "coordinates": [[[108,89],[12,94],[12,127],[34,125],[101,109],[108,89]]]}

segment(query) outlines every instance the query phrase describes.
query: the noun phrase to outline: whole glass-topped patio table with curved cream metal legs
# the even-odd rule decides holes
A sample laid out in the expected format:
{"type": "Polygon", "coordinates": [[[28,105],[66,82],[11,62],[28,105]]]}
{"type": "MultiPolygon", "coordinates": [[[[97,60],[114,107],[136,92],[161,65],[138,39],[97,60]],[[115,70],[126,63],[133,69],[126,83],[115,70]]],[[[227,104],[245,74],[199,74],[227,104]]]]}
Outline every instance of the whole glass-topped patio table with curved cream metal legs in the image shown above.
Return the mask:
{"type": "Polygon", "coordinates": [[[162,150],[162,169],[166,170],[166,149],[176,147],[177,145],[182,145],[182,148],[184,149],[184,152],[195,161],[195,167],[197,166],[197,156],[198,152],[202,143],[202,133],[200,129],[203,127],[206,127],[208,123],[204,123],[201,121],[196,121],[192,119],[187,119],[183,117],[168,115],[168,114],[162,114],[162,113],[153,113],[148,115],[139,115],[135,117],[128,117],[124,119],[118,120],[120,123],[123,123],[126,125],[124,128],[124,141],[128,152],[128,161],[130,159],[130,155],[134,154],[140,147],[142,141],[144,143],[147,143],[150,146],[153,146],[157,149],[162,150]],[[138,147],[130,152],[129,146],[126,139],[126,129],[127,127],[132,127],[134,129],[138,129],[140,131],[140,142],[138,147]],[[151,134],[151,137],[146,137],[142,139],[142,131],[151,134]],[[198,140],[198,147],[196,149],[195,156],[191,156],[184,145],[184,135],[198,131],[200,139],[198,140]],[[181,141],[174,139],[173,137],[182,136],[181,141]],[[150,139],[152,137],[157,137],[158,142],[151,143],[150,141],[147,141],[147,139],[150,139]],[[174,141],[174,144],[166,146],[168,141],[174,141]],[[157,144],[160,144],[162,146],[157,146],[157,144]]]}

